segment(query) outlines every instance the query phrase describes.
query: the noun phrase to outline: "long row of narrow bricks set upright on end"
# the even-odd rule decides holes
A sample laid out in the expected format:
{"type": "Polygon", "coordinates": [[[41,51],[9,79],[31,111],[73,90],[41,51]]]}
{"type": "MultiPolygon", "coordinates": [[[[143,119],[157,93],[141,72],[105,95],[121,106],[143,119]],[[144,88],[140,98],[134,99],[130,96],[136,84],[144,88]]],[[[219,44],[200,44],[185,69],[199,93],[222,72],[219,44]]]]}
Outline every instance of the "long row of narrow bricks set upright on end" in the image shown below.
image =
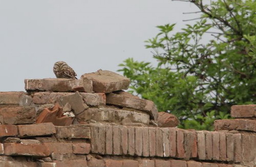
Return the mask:
{"type": "Polygon", "coordinates": [[[256,135],[177,128],[91,127],[92,152],[111,155],[174,157],[188,160],[253,161],[256,135]]]}

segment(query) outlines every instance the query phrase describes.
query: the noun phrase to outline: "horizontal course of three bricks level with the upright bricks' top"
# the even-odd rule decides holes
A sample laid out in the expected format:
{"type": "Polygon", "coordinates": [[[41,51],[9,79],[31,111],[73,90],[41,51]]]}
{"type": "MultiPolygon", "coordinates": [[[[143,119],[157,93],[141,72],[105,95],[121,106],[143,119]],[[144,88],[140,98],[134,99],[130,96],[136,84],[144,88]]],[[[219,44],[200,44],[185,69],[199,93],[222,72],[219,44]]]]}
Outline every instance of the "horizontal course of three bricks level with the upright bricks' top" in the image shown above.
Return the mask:
{"type": "Polygon", "coordinates": [[[29,137],[52,134],[55,134],[58,138],[91,138],[91,131],[89,127],[54,126],[52,123],[0,125],[0,137],[29,137]]]}

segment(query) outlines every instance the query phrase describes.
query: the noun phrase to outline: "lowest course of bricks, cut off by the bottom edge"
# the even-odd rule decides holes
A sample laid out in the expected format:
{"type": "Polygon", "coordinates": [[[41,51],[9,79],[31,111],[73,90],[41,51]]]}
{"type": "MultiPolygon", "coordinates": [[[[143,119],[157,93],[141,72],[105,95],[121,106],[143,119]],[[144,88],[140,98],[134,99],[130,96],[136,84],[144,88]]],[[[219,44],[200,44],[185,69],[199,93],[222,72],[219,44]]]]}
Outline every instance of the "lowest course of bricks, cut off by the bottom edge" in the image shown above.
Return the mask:
{"type": "Polygon", "coordinates": [[[220,163],[206,163],[197,161],[183,161],[183,160],[114,160],[114,159],[91,159],[91,160],[67,160],[54,162],[15,162],[15,161],[0,161],[0,166],[5,167],[245,167],[237,164],[220,164],[220,163]]]}

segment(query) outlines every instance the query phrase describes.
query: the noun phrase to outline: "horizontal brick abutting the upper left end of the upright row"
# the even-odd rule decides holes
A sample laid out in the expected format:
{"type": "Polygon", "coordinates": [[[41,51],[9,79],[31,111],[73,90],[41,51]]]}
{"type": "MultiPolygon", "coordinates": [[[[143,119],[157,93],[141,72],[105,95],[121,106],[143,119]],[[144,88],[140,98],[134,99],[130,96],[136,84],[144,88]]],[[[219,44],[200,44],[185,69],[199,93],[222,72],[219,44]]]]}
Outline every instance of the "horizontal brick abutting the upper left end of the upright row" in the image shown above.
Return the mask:
{"type": "Polygon", "coordinates": [[[91,130],[84,126],[55,126],[57,138],[91,138],[91,130]]]}

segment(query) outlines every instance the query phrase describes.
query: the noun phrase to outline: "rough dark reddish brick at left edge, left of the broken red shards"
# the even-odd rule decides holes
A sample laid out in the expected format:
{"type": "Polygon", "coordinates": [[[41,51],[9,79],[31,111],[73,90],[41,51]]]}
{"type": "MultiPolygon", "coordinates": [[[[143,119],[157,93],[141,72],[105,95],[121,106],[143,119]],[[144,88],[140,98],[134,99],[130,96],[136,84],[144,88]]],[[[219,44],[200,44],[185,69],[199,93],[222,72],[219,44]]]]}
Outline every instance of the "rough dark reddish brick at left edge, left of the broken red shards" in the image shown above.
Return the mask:
{"type": "Polygon", "coordinates": [[[6,107],[0,108],[1,124],[32,124],[35,122],[34,107],[6,107]]]}

